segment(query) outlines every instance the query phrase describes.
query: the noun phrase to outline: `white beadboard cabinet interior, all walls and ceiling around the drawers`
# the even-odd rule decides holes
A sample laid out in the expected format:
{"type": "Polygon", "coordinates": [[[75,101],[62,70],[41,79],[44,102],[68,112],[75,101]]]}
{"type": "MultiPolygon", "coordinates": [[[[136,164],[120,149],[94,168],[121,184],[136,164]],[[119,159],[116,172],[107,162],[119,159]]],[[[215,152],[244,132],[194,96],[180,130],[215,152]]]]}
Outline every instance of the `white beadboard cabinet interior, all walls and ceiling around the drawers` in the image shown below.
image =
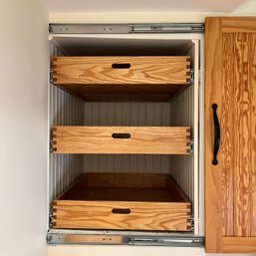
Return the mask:
{"type": "MultiPolygon", "coordinates": [[[[198,72],[195,43],[189,39],[56,37],[50,41],[50,48],[51,60],[55,56],[190,56],[191,68],[198,72]]],[[[197,86],[187,86],[167,102],[152,103],[85,102],[51,84],[50,129],[54,126],[189,127],[191,139],[196,142],[197,86]]],[[[192,215],[198,216],[197,142],[195,146],[194,153],[189,155],[50,153],[49,204],[83,173],[166,173],[191,201],[192,215]]]]}

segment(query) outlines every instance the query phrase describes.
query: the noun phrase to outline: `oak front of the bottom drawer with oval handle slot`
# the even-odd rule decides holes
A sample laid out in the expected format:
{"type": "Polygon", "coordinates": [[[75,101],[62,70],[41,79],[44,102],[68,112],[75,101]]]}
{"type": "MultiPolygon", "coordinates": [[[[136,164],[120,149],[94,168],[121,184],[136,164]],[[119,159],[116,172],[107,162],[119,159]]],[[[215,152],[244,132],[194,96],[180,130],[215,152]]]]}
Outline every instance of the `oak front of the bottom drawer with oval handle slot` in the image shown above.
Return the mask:
{"type": "Polygon", "coordinates": [[[190,203],[58,200],[54,227],[190,231],[190,203]]]}

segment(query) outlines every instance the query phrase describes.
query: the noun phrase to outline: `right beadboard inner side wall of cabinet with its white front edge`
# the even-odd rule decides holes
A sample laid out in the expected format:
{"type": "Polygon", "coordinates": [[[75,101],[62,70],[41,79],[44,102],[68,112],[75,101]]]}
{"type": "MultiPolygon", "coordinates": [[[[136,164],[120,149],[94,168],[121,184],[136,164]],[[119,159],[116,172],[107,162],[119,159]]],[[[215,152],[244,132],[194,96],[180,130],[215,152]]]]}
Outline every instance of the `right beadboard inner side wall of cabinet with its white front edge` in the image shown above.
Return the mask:
{"type": "Polygon", "coordinates": [[[198,64],[198,46],[196,43],[188,49],[187,55],[191,57],[191,69],[194,70],[194,83],[188,86],[183,91],[179,92],[175,97],[170,100],[170,126],[189,127],[190,136],[194,141],[194,152],[190,155],[170,155],[170,174],[188,196],[192,203],[192,215],[195,218],[194,231],[198,232],[196,221],[198,219],[198,173],[197,164],[197,135],[198,135],[198,120],[197,104],[198,104],[198,80],[196,79],[199,69],[198,64]]]}

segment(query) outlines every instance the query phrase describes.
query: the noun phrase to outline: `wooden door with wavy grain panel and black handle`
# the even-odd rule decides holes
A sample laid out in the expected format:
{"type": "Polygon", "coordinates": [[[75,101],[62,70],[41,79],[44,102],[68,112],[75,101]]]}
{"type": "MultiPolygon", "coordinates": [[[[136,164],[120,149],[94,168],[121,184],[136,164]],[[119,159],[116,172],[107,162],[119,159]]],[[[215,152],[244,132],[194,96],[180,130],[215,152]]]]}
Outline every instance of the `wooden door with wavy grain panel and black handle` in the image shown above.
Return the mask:
{"type": "Polygon", "coordinates": [[[206,251],[256,252],[256,18],[205,25],[206,251]]]}

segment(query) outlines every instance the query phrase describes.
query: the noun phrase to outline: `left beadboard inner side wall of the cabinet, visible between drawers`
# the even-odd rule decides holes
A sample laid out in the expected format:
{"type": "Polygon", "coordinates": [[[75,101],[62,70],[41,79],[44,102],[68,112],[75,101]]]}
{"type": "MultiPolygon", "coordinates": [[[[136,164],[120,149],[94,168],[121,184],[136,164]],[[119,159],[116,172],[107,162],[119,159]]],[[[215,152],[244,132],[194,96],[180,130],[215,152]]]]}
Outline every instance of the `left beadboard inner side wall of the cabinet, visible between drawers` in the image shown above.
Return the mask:
{"type": "MultiPolygon", "coordinates": [[[[53,41],[51,57],[64,55],[53,41]]],[[[52,58],[51,58],[52,59],[52,58]]],[[[84,102],[50,84],[50,128],[54,126],[83,126],[84,102]]],[[[53,154],[49,159],[49,203],[83,173],[81,154],[53,154]]],[[[50,207],[51,208],[51,207],[50,207]]]]}

